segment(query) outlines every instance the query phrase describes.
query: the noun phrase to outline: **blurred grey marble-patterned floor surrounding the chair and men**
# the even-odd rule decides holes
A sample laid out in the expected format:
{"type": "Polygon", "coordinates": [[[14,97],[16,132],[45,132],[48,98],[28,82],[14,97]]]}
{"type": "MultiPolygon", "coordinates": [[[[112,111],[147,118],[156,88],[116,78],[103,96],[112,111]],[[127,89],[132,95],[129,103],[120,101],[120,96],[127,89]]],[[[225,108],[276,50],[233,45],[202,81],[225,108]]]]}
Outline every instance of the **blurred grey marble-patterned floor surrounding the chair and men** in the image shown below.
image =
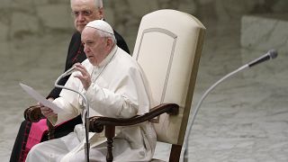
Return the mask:
{"type": "MultiPolygon", "coordinates": [[[[222,76],[266,51],[241,49],[240,23],[204,23],[207,28],[193,107],[222,76]]],[[[0,158],[8,161],[23,111],[35,103],[20,82],[46,95],[62,72],[69,35],[27,36],[0,44],[0,158]]],[[[202,103],[189,136],[188,161],[287,162],[287,54],[230,77],[202,103]]],[[[167,159],[158,143],[155,157],[167,159]]]]}

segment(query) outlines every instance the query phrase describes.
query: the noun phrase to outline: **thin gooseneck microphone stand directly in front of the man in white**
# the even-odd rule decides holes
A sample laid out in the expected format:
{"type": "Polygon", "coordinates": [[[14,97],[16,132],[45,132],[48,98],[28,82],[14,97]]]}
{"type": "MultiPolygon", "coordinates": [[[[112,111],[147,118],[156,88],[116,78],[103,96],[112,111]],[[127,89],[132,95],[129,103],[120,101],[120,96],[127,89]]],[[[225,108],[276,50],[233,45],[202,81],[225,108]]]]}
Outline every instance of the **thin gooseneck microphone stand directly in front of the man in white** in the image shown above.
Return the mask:
{"type": "Polygon", "coordinates": [[[84,120],[84,125],[85,125],[85,162],[89,162],[89,148],[90,148],[90,143],[89,143],[89,103],[87,98],[85,97],[84,94],[77,92],[74,89],[68,88],[66,86],[58,85],[58,81],[63,78],[64,76],[67,76],[67,73],[63,73],[61,76],[58,76],[57,80],[55,81],[55,87],[62,88],[62,89],[67,89],[69,91],[73,91],[76,94],[79,94],[85,101],[85,105],[83,105],[83,112],[82,115],[85,116],[84,120]]]}

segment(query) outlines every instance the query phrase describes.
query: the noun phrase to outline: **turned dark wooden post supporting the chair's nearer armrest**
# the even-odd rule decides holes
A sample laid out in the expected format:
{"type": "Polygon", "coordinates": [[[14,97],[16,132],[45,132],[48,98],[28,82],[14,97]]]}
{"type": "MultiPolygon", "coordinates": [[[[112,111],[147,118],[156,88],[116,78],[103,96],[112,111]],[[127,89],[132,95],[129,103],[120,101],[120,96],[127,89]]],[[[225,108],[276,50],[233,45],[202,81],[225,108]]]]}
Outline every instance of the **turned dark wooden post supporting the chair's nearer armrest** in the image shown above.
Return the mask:
{"type": "Polygon", "coordinates": [[[113,155],[112,155],[112,143],[113,138],[115,136],[115,127],[114,126],[106,126],[105,127],[105,137],[107,138],[107,155],[106,160],[107,162],[113,161],[113,155]]]}

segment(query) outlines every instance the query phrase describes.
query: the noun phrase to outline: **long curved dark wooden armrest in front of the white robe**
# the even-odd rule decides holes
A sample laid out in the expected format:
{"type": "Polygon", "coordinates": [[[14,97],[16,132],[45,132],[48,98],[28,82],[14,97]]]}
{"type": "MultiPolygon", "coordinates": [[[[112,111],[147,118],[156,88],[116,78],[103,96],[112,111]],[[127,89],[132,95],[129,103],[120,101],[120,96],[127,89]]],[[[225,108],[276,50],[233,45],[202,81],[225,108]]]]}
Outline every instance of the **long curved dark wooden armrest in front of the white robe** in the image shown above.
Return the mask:
{"type": "Polygon", "coordinates": [[[136,115],[131,118],[109,118],[109,117],[91,117],[89,119],[89,130],[93,132],[102,132],[104,126],[129,126],[139,124],[143,121],[149,121],[162,113],[176,115],[179,112],[179,105],[175,103],[162,103],[152,108],[150,112],[143,115],[136,115]]]}

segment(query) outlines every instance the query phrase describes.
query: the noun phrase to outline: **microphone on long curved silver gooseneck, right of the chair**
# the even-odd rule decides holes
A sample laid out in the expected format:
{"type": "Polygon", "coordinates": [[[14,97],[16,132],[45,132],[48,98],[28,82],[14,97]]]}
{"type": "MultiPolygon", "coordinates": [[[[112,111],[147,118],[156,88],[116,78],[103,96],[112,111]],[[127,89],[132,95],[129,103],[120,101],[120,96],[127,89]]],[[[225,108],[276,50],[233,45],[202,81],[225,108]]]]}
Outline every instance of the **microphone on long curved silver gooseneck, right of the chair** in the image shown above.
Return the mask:
{"type": "Polygon", "coordinates": [[[184,162],[187,162],[188,161],[188,144],[189,144],[189,136],[190,136],[190,133],[191,133],[191,130],[192,130],[192,126],[193,126],[193,122],[196,118],[196,115],[197,115],[197,112],[199,111],[200,109],[200,106],[203,102],[203,100],[205,99],[205,97],[211,92],[211,90],[213,90],[217,85],[219,85],[222,81],[224,81],[225,79],[229,78],[230,76],[233,76],[235,74],[237,74],[239,71],[242,71],[243,69],[247,68],[247,67],[253,67],[253,66],[256,66],[257,64],[260,64],[266,60],[269,60],[269,59],[273,59],[273,58],[276,58],[277,57],[277,51],[275,49],[270,49],[265,55],[263,55],[262,57],[260,58],[257,58],[247,64],[245,64],[244,66],[242,67],[238,67],[238,69],[230,72],[228,75],[226,76],[223,76],[221,77],[217,82],[215,82],[213,85],[211,85],[206,91],[204,94],[202,94],[202,97],[200,99],[200,101],[197,103],[195,109],[194,109],[194,112],[193,112],[193,115],[191,117],[191,119],[189,119],[188,121],[188,126],[187,126],[187,132],[188,134],[185,136],[185,139],[184,139],[184,162]],[[189,124],[190,122],[190,124],[189,124]]]}

